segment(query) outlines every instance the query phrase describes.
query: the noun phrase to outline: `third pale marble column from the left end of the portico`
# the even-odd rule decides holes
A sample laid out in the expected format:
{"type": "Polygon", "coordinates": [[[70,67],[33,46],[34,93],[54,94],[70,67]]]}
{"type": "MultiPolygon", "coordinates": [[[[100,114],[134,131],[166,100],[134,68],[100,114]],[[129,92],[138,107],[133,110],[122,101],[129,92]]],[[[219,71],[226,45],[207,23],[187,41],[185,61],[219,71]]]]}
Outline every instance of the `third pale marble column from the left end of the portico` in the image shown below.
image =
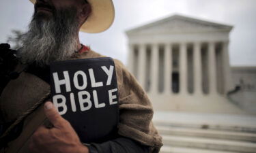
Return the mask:
{"type": "Polygon", "coordinates": [[[159,76],[159,49],[158,44],[152,44],[152,53],[151,53],[151,81],[150,81],[150,92],[158,93],[158,76],[159,76]]]}

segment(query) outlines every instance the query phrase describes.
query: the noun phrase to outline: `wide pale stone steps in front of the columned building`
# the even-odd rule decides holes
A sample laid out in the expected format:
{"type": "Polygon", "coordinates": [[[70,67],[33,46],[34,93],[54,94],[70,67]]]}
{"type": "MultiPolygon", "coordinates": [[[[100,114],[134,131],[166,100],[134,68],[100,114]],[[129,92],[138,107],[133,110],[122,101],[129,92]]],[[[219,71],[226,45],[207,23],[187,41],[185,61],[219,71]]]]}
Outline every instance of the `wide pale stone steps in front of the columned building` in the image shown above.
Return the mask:
{"type": "Polygon", "coordinates": [[[256,153],[256,118],[231,114],[156,112],[160,153],[256,153]]]}

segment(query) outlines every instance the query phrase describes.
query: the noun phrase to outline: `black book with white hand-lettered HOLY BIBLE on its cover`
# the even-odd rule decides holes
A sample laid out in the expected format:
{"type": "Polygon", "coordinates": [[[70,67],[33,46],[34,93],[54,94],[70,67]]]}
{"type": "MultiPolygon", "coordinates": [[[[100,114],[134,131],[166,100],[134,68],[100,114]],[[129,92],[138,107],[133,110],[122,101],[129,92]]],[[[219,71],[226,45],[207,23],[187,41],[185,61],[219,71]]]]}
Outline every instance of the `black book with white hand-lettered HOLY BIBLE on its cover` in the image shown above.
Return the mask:
{"type": "Polygon", "coordinates": [[[59,114],[83,143],[99,143],[117,135],[118,91],[112,58],[51,64],[51,95],[59,114]]]}

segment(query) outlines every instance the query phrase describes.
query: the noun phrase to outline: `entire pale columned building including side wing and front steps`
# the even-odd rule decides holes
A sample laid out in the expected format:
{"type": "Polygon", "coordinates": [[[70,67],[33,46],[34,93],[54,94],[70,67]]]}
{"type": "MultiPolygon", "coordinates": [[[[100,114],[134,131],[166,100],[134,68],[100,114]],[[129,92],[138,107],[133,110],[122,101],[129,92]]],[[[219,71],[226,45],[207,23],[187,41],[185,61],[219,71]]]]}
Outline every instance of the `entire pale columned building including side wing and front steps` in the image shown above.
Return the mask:
{"type": "Polygon", "coordinates": [[[175,15],[126,32],[161,153],[255,152],[256,69],[230,67],[232,28],[175,15]]]}

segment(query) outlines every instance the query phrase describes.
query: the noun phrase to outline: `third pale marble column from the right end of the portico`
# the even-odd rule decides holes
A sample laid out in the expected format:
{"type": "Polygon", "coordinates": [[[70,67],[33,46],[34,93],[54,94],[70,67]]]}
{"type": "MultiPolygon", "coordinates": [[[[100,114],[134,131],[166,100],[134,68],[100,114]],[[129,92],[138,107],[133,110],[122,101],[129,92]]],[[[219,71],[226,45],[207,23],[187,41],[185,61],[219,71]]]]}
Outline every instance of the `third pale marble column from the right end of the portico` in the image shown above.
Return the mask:
{"type": "Polygon", "coordinates": [[[202,60],[201,60],[201,44],[195,42],[193,44],[193,61],[194,61],[194,93],[202,94],[202,60]]]}

